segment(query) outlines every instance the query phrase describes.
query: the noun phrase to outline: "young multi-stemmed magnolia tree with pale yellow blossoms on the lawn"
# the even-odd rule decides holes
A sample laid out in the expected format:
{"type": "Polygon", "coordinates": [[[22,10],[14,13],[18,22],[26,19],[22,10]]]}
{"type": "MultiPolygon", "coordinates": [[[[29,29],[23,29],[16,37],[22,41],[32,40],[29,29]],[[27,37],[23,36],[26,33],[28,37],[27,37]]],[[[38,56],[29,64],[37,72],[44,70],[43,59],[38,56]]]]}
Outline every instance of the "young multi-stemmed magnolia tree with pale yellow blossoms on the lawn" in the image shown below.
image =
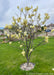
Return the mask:
{"type": "MultiPolygon", "coordinates": [[[[35,34],[37,34],[37,27],[45,24],[45,22],[49,19],[49,15],[45,13],[44,20],[42,20],[40,13],[37,13],[38,6],[36,8],[33,8],[32,6],[25,7],[24,9],[19,8],[18,6],[17,8],[19,15],[17,15],[17,18],[13,17],[12,25],[6,26],[6,28],[15,30],[16,34],[11,34],[11,37],[19,40],[18,43],[20,43],[22,55],[26,57],[27,66],[29,66],[31,53],[44,42],[44,40],[42,40],[34,47],[33,40],[35,34]]],[[[45,41],[48,42],[48,36],[45,37],[45,41]]]]}

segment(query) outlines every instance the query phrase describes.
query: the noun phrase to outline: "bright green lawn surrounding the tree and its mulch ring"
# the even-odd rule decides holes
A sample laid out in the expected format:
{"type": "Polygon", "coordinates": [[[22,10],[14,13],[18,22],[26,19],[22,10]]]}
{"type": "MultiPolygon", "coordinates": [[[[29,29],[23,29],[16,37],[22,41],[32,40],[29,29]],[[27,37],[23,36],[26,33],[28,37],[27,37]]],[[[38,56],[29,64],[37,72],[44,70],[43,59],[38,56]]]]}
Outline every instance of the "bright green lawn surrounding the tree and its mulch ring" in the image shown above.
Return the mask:
{"type": "MultiPolygon", "coordinates": [[[[35,39],[34,43],[41,41],[35,39]]],[[[54,73],[54,38],[49,38],[49,43],[41,45],[34,50],[30,62],[35,64],[34,69],[22,71],[20,65],[26,62],[18,49],[19,44],[13,42],[11,45],[0,44],[0,75],[29,75],[29,73],[54,73]]],[[[34,74],[37,75],[37,74],[34,74]]],[[[40,75],[40,74],[38,74],[40,75]]],[[[41,74],[42,75],[42,74],[41,74]]],[[[43,74],[44,75],[44,74],[43,74]]]]}

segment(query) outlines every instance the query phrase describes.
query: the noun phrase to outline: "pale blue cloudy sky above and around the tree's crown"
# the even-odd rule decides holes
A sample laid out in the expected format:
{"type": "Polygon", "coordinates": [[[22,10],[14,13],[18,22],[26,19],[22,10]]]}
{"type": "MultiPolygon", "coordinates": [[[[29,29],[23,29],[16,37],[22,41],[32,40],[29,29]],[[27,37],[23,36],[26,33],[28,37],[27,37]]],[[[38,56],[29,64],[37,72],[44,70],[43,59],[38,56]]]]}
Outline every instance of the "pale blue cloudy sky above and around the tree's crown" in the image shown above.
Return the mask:
{"type": "Polygon", "coordinates": [[[49,13],[50,19],[46,25],[54,23],[54,0],[0,0],[0,27],[12,23],[12,16],[18,14],[17,6],[24,8],[31,5],[39,7],[38,12],[42,17],[44,13],[49,13]]]}

